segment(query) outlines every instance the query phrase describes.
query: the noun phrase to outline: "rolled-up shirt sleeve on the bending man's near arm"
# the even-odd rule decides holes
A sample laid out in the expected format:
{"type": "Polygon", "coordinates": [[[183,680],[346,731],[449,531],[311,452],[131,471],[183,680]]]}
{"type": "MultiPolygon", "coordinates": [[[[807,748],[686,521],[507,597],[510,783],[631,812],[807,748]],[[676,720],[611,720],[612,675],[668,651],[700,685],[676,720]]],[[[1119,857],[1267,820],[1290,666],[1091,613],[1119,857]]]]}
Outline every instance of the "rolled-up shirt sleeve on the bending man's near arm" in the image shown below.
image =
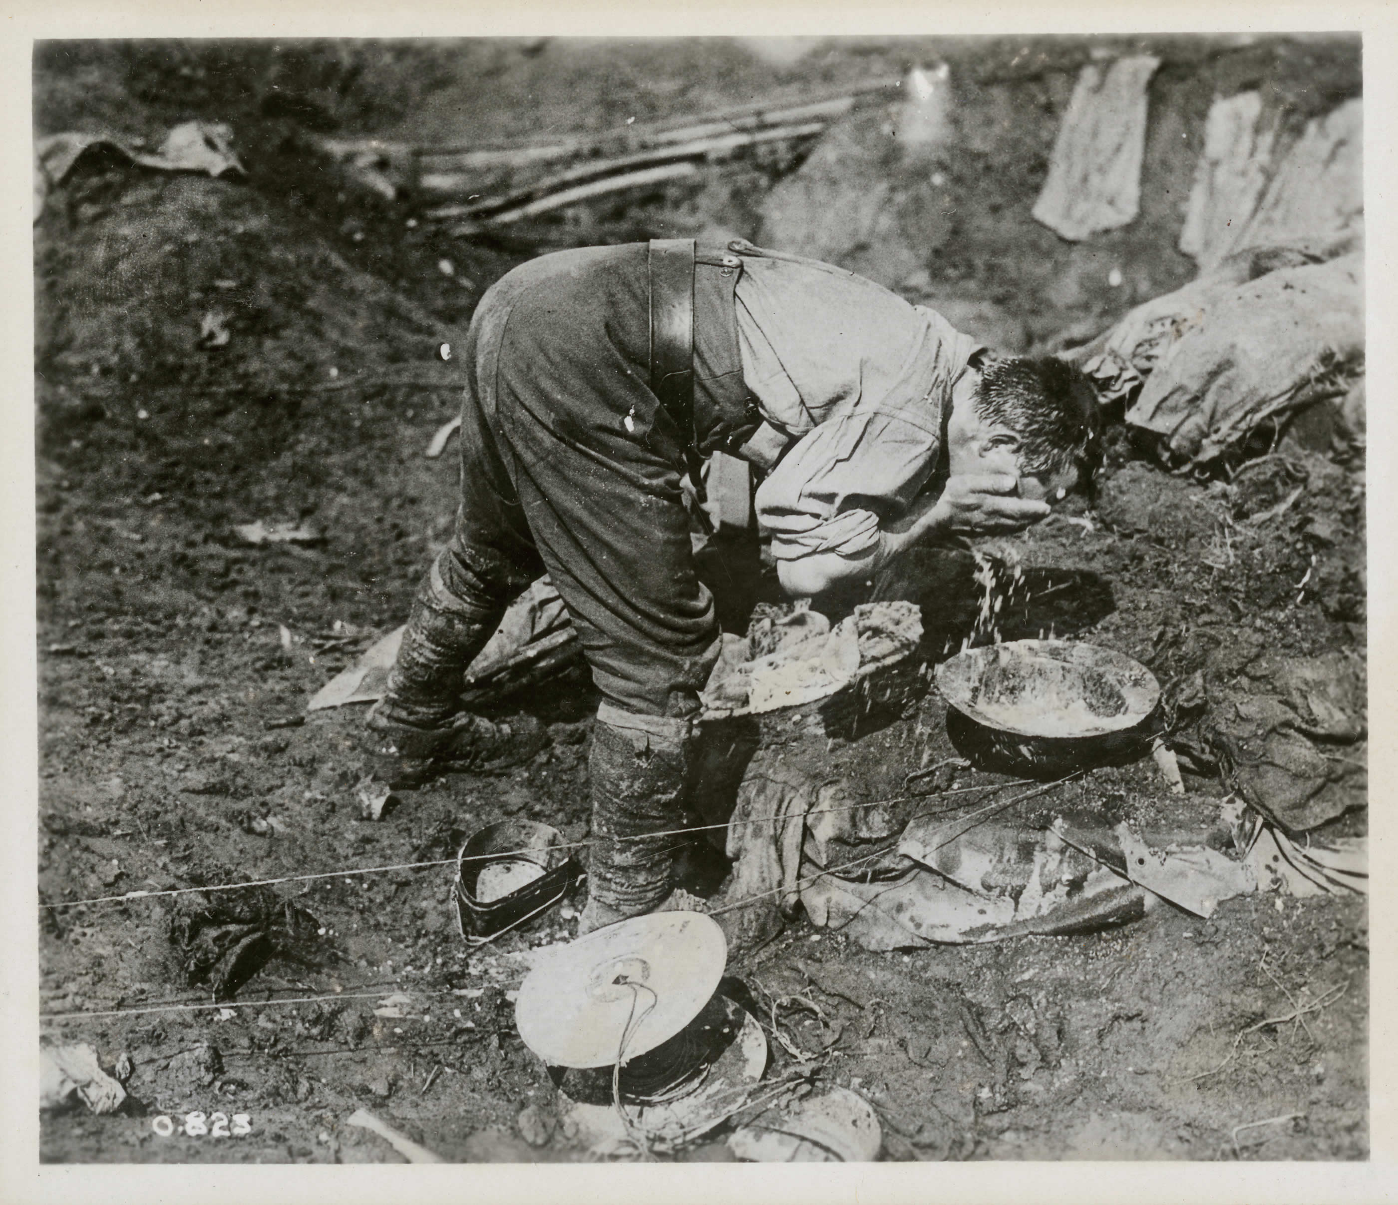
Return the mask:
{"type": "Polygon", "coordinates": [[[805,435],[762,483],[758,521],[772,556],[858,557],[900,515],[937,463],[939,432],[907,413],[856,410],[805,435]]]}

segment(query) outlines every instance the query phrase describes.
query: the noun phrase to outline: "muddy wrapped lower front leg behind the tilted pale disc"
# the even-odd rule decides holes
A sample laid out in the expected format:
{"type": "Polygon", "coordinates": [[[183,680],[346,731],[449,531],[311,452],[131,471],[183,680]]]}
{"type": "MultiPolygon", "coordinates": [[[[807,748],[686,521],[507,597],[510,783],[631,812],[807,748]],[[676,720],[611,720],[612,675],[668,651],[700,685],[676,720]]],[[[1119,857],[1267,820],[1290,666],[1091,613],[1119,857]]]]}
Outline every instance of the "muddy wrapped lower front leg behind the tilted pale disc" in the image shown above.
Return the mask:
{"type": "Polygon", "coordinates": [[[653,912],[670,896],[674,855],[685,837],[684,796],[693,750],[688,719],[597,712],[589,761],[593,847],[587,907],[577,933],[653,912]],[[649,836],[654,833],[671,836],[649,836]]]}

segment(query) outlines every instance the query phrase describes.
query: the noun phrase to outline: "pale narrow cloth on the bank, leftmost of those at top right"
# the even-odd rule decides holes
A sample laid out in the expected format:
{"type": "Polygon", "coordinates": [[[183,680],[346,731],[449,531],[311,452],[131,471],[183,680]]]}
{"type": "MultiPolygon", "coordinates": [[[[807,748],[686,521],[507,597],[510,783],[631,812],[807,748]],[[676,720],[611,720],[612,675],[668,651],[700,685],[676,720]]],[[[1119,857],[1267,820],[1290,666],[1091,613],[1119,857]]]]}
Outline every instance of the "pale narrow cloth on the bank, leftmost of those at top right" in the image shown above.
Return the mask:
{"type": "Polygon", "coordinates": [[[1160,60],[1117,59],[1106,71],[1088,63],[1068,101],[1033,214],[1081,242],[1135,221],[1141,209],[1146,88],[1160,60]]]}

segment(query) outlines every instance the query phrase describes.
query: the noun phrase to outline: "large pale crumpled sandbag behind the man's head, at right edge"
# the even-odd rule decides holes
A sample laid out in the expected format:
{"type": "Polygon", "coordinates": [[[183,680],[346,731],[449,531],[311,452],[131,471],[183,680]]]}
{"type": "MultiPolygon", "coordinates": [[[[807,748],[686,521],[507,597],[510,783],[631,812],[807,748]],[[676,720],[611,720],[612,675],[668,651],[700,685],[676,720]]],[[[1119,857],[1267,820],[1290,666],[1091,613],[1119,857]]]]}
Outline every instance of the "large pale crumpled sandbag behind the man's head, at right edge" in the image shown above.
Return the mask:
{"type": "Polygon", "coordinates": [[[1197,281],[1128,315],[1109,339],[1151,375],[1127,423],[1208,462],[1257,427],[1324,397],[1363,371],[1363,256],[1271,272],[1243,286],[1197,281]],[[1169,304],[1166,304],[1169,301],[1169,304]]]}

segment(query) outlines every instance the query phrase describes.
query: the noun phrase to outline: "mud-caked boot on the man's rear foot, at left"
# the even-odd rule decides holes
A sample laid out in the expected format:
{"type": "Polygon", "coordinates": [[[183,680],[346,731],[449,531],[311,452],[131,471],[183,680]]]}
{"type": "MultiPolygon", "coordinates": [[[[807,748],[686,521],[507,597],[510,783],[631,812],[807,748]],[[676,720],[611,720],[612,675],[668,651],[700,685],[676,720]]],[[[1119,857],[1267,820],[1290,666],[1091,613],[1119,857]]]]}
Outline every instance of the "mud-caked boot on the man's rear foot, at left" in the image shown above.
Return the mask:
{"type": "Polygon", "coordinates": [[[548,743],[547,729],[533,715],[493,724],[461,712],[443,726],[419,728],[397,719],[391,703],[382,700],[365,724],[369,770],[397,791],[421,787],[438,774],[509,770],[548,743]]]}

